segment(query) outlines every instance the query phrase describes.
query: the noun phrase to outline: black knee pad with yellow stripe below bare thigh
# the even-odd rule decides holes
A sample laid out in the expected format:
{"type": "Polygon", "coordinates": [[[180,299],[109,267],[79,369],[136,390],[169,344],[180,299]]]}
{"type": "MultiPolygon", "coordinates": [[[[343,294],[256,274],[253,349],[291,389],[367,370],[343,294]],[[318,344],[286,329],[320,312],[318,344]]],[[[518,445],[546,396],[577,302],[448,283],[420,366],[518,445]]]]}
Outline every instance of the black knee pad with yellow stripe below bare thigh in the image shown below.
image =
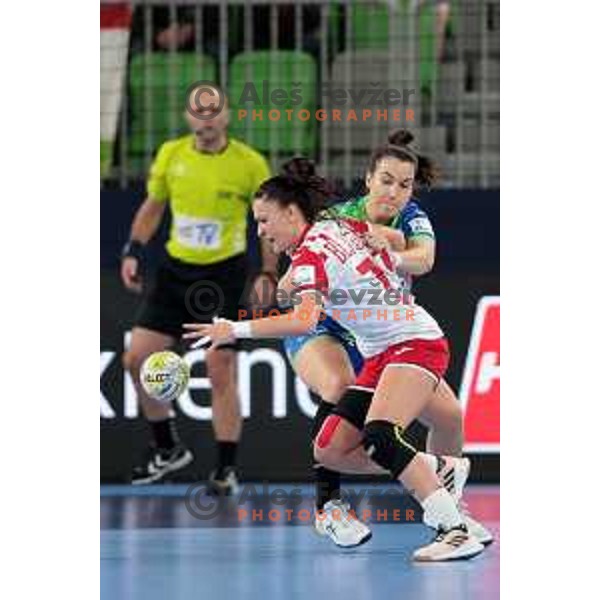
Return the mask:
{"type": "Polygon", "coordinates": [[[403,430],[390,421],[371,421],[363,431],[363,447],[371,459],[396,479],[417,451],[402,437],[403,430]]]}

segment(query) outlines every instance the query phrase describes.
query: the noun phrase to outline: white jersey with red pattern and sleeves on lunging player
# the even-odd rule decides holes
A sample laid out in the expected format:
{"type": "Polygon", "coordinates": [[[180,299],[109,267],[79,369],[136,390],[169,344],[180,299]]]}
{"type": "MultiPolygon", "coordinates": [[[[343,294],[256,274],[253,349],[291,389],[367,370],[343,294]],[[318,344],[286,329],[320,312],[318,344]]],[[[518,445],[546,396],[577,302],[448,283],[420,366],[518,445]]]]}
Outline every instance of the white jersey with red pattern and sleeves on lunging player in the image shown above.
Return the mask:
{"type": "Polygon", "coordinates": [[[435,319],[398,292],[394,259],[368,245],[368,230],[367,223],[351,219],[309,227],[292,255],[295,291],[318,292],[327,314],[354,334],[366,358],[392,344],[443,337],[435,319]]]}

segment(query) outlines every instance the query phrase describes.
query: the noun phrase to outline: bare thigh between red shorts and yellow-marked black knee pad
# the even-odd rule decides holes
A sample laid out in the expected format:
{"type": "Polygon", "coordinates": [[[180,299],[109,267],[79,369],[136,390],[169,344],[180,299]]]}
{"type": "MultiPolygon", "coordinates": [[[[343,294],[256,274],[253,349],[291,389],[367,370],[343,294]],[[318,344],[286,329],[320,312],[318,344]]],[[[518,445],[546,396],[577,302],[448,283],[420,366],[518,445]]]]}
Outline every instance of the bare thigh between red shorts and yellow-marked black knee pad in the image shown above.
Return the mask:
{"type": "Polygon", "coordinates": [[[428,405],[437,381],[407,365],[388,365],[377,384],[366,421],[391,421],[408,427],[428,405]]]}

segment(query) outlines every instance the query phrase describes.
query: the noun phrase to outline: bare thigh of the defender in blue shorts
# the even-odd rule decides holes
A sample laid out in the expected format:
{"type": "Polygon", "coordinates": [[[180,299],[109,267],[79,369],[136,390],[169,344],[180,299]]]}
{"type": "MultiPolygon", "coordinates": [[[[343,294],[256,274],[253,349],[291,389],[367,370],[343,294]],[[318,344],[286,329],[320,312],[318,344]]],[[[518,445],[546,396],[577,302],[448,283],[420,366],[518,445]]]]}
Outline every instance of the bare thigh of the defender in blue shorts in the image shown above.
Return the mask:
{"type": "Polygon", "coordinates": [[[329,335],[309,340],[296,354],[294,371],[323,400],[332,404],[354,383],[354,369],[344,346],[329,335]]]}

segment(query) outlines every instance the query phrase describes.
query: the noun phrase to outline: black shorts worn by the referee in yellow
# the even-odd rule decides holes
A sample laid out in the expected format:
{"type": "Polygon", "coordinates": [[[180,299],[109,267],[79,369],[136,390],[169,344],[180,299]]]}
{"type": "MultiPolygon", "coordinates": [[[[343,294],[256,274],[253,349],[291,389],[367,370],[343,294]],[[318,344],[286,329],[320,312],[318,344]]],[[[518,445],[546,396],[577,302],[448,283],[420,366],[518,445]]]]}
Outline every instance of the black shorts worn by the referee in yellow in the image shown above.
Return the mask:
{"type": "MultiPolygon", "coordinates": [[[[213,317],[237,321],[246,275],[245,255],[212,265],[194,265],[167,256],[144,298],[136,326],[179,339],[183,323],[210,323],[213,317]]],[[[237,344],[220,346],[235,347],[237,344]]]]}

